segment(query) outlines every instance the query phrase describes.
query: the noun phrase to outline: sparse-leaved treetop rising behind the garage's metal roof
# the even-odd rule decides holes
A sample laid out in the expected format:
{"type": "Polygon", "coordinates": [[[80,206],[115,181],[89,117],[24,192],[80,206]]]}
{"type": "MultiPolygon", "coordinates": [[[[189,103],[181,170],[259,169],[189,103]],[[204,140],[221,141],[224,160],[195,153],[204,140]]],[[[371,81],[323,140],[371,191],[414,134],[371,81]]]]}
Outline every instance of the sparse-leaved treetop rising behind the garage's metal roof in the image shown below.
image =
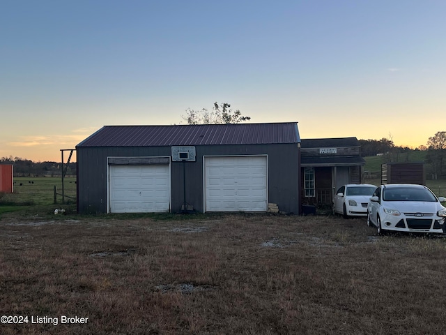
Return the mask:
{"type": "Polygon", "coordinates": [[[191,110],[187,108],[186,115],[181,116],[187,124],[239,124],[240,122],[250,120],[251,117],[245,117],[240,110],[231,110],[229,103],[214,103],[212,112],[206,108],[201,110],[191,110]]]}

